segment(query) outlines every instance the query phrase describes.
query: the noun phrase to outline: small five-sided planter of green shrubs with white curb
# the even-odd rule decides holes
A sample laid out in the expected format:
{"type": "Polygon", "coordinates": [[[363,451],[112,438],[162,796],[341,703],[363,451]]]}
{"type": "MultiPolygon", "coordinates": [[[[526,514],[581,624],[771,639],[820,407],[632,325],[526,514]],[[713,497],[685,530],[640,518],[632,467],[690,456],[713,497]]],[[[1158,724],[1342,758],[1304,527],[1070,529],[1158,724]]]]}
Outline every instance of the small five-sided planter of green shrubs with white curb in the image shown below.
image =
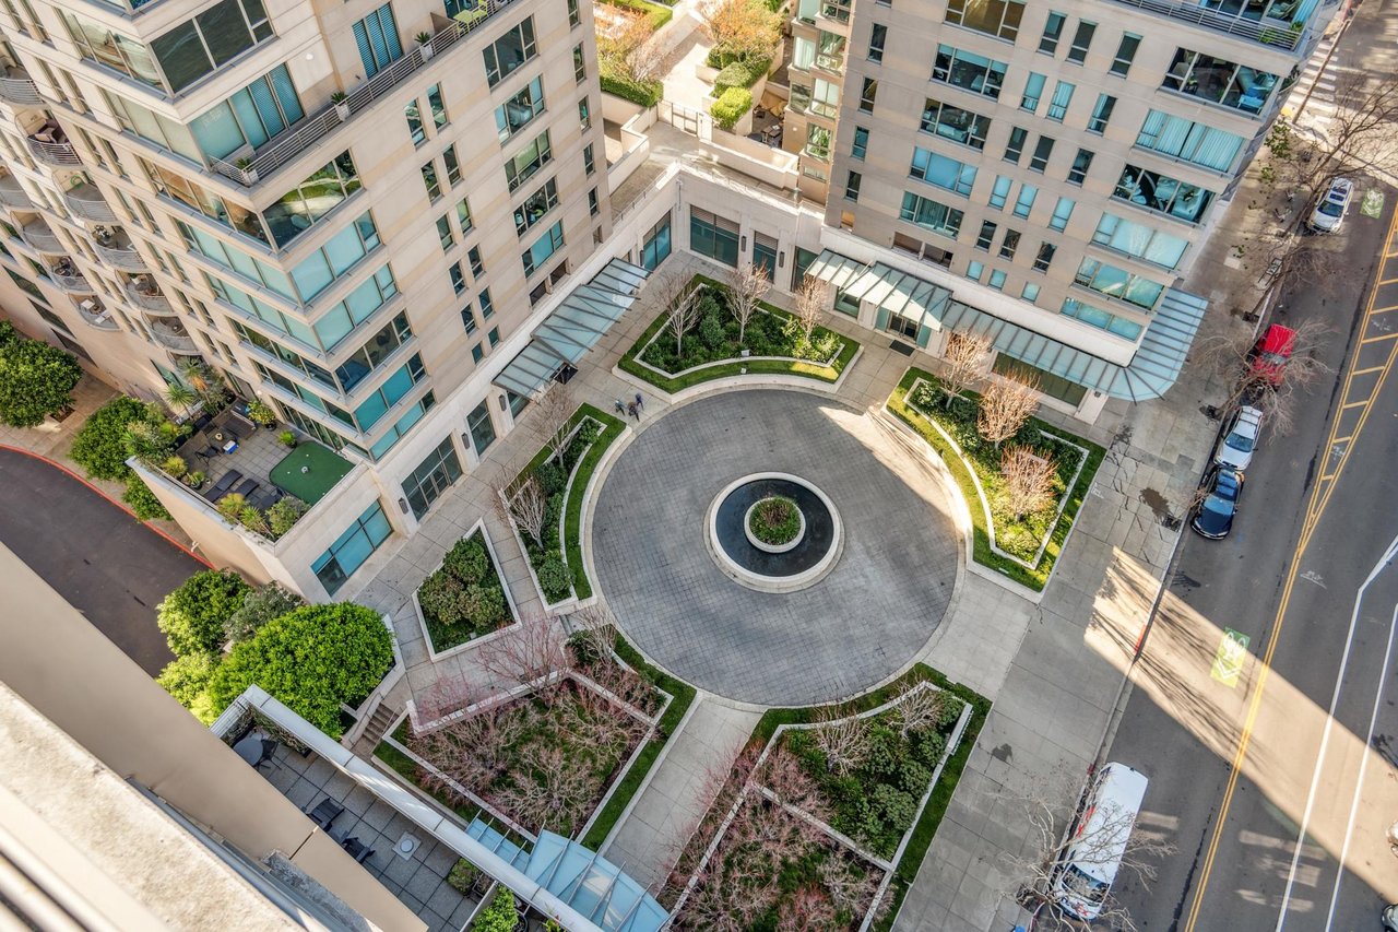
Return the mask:
{"type": "Polygon", "coordinates": [[[514,600],[500,577],[495,547],[482,522],[457,540],[442,564],[422,581],[412,593],[412,607],[433,661],[517,624],[514,600]],[[457,598],[453,600],[450,595],[457,598]],[[443,606],[454,606],[454,613],[464,610],[464,614],[443,617],[443,606]]]}

